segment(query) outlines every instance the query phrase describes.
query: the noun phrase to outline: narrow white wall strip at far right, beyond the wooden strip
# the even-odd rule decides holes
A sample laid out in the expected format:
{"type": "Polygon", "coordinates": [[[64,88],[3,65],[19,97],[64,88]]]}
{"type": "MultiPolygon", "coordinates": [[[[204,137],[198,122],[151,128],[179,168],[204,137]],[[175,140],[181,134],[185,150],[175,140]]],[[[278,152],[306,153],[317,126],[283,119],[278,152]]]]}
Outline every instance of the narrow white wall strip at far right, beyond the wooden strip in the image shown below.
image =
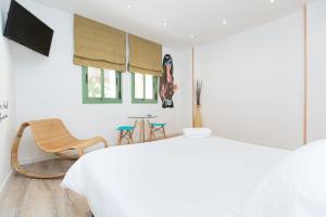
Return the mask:
{"type": "Polygon", "coordinates": [[[326,138],[326,1],[308,5],[309,125],[308,139],[326,138]]]}

